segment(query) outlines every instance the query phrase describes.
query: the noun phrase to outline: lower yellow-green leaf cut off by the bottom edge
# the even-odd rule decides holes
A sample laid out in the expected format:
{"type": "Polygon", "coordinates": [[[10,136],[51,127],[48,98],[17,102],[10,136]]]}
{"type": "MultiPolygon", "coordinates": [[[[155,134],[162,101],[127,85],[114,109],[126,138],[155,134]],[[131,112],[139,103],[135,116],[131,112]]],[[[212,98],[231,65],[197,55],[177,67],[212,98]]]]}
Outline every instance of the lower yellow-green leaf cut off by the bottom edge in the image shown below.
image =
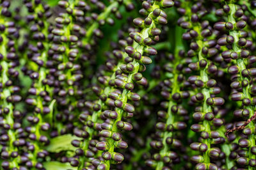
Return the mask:
{"type": "Polygon", "coordinates": [[[63,170],[63,169],[68,169],[68,170],[77,170],[77,167],[72,167],[68,163],[61,163],[57,161],[52,161],[52,162],[44,162],[43,163],[45,169],[54,169],[54,170],[63,170]]]}

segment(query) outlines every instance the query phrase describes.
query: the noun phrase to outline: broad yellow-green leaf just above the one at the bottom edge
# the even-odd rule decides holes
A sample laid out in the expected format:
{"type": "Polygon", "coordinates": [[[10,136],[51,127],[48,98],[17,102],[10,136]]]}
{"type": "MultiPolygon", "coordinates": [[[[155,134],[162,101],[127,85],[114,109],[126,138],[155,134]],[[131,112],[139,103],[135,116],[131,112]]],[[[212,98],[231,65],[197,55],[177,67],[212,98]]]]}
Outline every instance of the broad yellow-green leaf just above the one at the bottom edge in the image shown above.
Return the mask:
{"type": "Polygon", "coordinates": [[[54,137],[51,139],[51,143],[48,146],[45,146],[45,150],[53,153],[58,153],[60,151],[75,151],[76,147],[71,144],[74,139],[81,140],[82,138],[71,134],[54,137]]]}

